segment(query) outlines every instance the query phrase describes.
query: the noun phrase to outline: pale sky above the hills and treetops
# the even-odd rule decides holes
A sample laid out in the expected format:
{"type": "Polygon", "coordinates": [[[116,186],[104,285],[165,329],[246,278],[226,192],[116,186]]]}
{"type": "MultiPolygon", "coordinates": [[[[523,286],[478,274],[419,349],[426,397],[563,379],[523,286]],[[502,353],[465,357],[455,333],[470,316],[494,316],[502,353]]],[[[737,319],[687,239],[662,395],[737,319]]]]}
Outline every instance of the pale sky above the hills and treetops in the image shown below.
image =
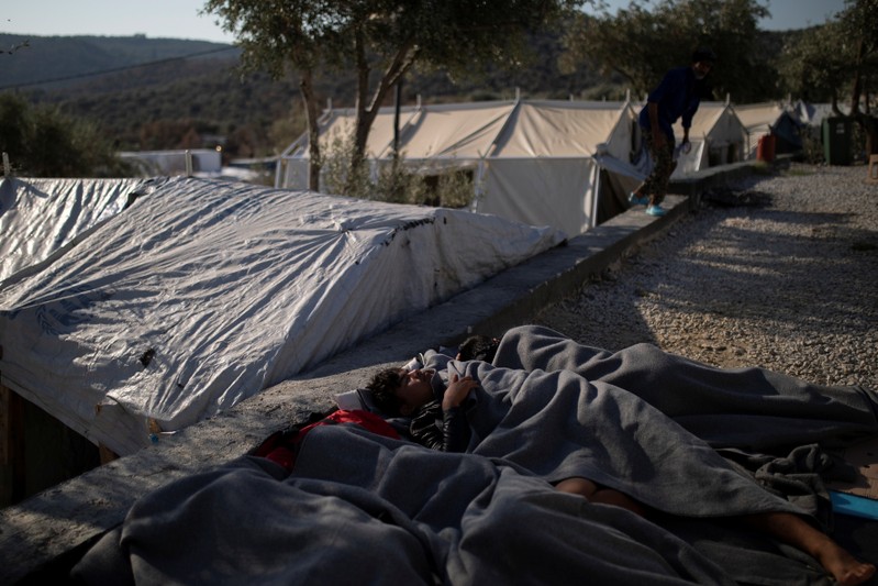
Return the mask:
{"type": "MultiPolygon", "coordinates": [[[[766,0],[769,31],[822,24],[844,9],[844,0],[766,0]]],[[[608,0],[612,9],[629,0],[608,0]]],[[[644,2],[648,4],[648,2],[644,2]]],[[[3,0],[0,32],[35,36],[132,36],[232,43],[214,15],[199,15],[204,0],[3,0]]]]}

